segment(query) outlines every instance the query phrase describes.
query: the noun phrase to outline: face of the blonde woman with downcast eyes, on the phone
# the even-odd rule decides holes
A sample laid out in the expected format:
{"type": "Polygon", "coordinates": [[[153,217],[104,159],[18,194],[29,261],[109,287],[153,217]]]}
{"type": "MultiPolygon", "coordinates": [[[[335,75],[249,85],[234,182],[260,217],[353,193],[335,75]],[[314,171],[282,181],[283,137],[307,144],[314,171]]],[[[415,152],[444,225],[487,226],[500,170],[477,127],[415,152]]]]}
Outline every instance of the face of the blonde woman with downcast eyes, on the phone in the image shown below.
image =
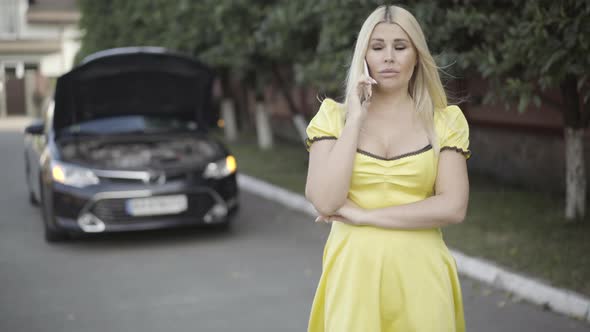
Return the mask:
{"type": "Polygon", "coordinates": [[[379,23],[373,29],[366,54],[367,65],[379,90],[405,88],[417,62],[416,49],[397,24],[379,23]]]}

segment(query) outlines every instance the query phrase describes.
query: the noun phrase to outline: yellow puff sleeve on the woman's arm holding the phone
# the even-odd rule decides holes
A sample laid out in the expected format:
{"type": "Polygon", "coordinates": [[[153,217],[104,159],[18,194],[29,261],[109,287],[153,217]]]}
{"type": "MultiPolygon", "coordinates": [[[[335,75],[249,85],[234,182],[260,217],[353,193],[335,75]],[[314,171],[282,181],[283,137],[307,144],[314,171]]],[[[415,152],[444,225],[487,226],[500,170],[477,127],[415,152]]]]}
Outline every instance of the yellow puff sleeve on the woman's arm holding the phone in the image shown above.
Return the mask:
{"type": "Polygon", "coordinates": [[[338,139],[341,130],[340,117],[339,104],[332,99],[325,99],[307,126],[305,139],[307,151],[316,141],[338,139]]]}

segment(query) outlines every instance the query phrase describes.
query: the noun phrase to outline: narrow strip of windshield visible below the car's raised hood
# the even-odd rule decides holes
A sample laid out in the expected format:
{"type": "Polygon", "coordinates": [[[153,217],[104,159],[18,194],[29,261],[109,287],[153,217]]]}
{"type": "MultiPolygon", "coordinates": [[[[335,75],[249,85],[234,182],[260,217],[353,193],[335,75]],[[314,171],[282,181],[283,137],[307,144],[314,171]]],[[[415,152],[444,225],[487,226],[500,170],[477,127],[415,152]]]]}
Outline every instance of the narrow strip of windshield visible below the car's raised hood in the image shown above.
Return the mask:
{"type": "Polygon", "coordinates": [[[64,132],[71,135],[124,135],[192,131],[196,129],[197,123],[195,121],[186,121],[171,117],[127,115],[77,123],[65,128],[64,132]]]}

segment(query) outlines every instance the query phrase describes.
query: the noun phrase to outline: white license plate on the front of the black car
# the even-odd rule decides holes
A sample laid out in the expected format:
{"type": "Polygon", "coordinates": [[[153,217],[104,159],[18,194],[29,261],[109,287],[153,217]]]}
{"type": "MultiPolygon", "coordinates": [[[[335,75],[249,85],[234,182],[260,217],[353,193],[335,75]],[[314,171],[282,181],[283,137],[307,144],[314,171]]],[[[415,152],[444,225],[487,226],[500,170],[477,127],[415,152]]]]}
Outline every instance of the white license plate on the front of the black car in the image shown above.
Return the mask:
{"type": "Polygon", "coordinates": [[[186,195],[133,198],[125,202],[125,210],[132,216],[177,214],[188,207],[186,195]]]}

